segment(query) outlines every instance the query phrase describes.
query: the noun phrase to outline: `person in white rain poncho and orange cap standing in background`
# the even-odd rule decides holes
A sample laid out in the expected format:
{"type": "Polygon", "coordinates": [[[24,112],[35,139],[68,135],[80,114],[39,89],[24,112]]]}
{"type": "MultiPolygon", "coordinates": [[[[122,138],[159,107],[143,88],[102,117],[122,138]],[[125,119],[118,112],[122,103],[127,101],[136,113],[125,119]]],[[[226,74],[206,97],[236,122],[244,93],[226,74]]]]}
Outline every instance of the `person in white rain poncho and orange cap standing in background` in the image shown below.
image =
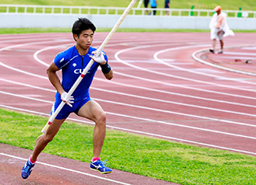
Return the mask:
{"type": "Polygon", "coordinates": [[[209,51],[212,54],[215,54],[215,44],[216,40],[219,40],[220,43],[220,51],[218,54],[223,53],[223,37],[226,37],[228,35],[234,36],[232,30],[229,30],[229,26],[226,23],[226,13],[221,12],[222,7],[220,5],[217,5],[215,7],[215,14],[212,16],[212,21],[210,23],[210,29],[211,29],[211,39],[212,39],[212,49],[209,51]]]}

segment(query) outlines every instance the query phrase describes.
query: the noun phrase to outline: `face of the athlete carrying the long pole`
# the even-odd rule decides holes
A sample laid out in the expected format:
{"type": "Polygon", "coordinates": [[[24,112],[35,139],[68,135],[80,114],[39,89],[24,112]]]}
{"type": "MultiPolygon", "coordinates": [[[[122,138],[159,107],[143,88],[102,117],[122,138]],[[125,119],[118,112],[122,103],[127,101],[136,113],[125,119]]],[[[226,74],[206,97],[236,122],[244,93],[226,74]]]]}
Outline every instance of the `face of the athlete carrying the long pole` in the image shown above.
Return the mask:
{"type": "Polygon", "coordinates": [[[75,34],[76,47],[87,51],[94,40],[94,32],[92,30],[84,30],[80,33],[79,37],[75,34]]]}

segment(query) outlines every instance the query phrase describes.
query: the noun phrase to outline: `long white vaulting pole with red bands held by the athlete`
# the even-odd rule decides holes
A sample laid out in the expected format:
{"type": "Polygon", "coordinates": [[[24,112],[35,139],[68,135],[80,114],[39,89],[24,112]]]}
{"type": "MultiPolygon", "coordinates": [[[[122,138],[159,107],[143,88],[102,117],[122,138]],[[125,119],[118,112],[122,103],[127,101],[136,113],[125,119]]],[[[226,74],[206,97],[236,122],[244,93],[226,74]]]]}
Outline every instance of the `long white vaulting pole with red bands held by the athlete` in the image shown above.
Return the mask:
{"type": "MultiPolygon", "coordinates": [[[[122,16],[119,18],[119,20],[116,22],[116,25],[112,28],[112,30],[108,33],[108,36],[105,38],[104,42],[101,44],[101,46],[98,48],[97,55],[101,54],[101,51],[104,49],[104,47],[108,44],[108,41],[111,39],[113,34],[116,32],[116,30],[119,28],[120,24],[123,22],[123,19],[126,18],[130,10],[133,8],[133,5],[137,2],[137,0],[132,0],[130,2],[130,5],[126,8],[126,10],[123,12],[122,16]]],[[[80,84],[81,80],[84,78],[84,75],[87,74],[88,70],[91,68],[91,65],[94,64],[94,60],[91,59],[91,61],[88,63],[88,65],[84,68],[84,71],[82,74],[76,79],[76,82],[73,84],[72,88],[69,90],[69,93],[67,93],[67,97],[71,96],[73,92],[75,91],[76,87],[80,84]]],[[[59,111],[62,110],[62,107],[65,105],[65,103],[62,101],[62,103],[59,104],[57,110],[55,110],[54,113],[52,113],[52,116],[48,120],[48,123],[45,124],[44,128],[42,129],[42,133],[45,133],[48,129],[48,127],[52,124],[52,121],[55,119],[55,117],[58,115],[59,111]]]]}

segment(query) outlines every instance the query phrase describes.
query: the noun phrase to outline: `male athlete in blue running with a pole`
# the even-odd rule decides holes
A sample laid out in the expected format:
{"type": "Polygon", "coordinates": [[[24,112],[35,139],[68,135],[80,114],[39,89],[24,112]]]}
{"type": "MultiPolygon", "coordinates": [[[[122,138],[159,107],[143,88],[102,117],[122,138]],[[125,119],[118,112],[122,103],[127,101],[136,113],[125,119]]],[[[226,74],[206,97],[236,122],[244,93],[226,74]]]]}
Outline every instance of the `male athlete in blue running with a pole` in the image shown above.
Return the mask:
{"type": "Polygon", "coordinates": [[[80,117],[85,117],[95,122],[93,134],[94,152],[90,168],[98,170],[100,173],[112,172],[112,169],[106,167],[104,162],[101,162],[100,158],[101,148],[105,140],[106,114],[101,106],[89,96],[89,88],[99,65],[101,66],[101,72],[103,72],[106,79],[110,80],[113,77],[113,72],[108,65],[106,54],[102,51],[101,54],[96,57],[97,50],[91,47],[95,30],[96,27],[89,19],[78,19],[73,24],[72,28],[73,38],[76,41],[76,45],[57,54],[54,61],[52,61],[52,64],[47,69],[48,79],[57,90],[51,114],[57,109],[62,101],[66,104],[63,106],[57,117],[55,117],[55,120],[52,121],[52,124],[48,127],[46,133],[37,138],[34,151],[32,152],[32,155],[30,155],[25,166],[23,166],[21,172],[23,179],[27,179],[27,177],[30,176],[35,162],[37,161],[37,156],[43,151],[44,147],[52,141],[55,134],[58,133],[62,123],[69,117],[69,113],[76,113],[80,117]],[[67,92],[69,92],[69,89],[71,89],[76,82],[76,79],[83,72],[83,69],[89,61],[91,61],[91,58],[95,61],[94,64],[88,70],[84,79],[76,87],[72,96],[66,98],[67,92]],[[62,70],[62,82],[60,82],[59,77],[56,74],[59,70],[62,70]]]}

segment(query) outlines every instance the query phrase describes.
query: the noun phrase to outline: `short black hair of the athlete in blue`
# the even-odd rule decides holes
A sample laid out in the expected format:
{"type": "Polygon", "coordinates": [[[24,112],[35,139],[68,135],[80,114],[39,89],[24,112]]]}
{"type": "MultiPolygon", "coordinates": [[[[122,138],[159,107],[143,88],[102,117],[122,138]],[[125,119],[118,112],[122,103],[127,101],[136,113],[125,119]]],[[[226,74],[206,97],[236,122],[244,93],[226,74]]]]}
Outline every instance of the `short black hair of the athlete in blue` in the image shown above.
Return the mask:
{"type": "Polygon", "coordinates": [[[95,32],[96,27],[94,26],[93,23],[91,23],[91,21],[87,18],[79,18],[78,20],[76,20],[75,23],[73,23],[73,27],[72,27],[72,33],[73,33],[73,38],[74,40],[75,37],[74,35],[76,34],[77,37],[80,36],[80,33],[82,33],[83,30],[92,30],[93,32],[95,32]]]}

